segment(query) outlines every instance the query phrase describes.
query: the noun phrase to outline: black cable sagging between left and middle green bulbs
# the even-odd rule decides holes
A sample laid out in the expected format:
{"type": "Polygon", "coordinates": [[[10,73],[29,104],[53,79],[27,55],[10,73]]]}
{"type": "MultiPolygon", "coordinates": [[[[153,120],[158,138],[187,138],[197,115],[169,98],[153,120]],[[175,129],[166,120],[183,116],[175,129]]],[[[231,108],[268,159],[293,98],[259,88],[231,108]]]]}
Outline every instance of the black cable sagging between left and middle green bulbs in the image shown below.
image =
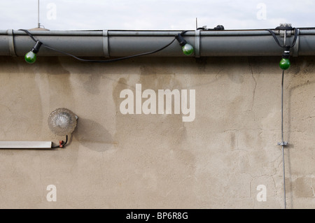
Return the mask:
{"type": "MultiPolygon", "coordinates": [[[[34,42],[37,42],[36,38],[34,38],[34,36],[27,30],[27,29],[19,29],[20,31],[24,31],[27,35],[29,35],[29,37],[31,37],[31,39],[34,41],[34,42]]],[[[183,34],[186,34],[188,30],[186,31],[182,31],[180,34],[183,35],[183,34]]],[[[127,56],[127,57],[120,57],[120,58],[116,58],[116,59],[101,59],[101,60],[97,60],[97,59],[82,59],[82,58],[79,58],[79,57],[76,57],[74,55],[71,55],[69,52],[64,52],[62,50],[57,50],[55,48],[52,48],[50,47],[49,45],[46,45],[45,43],[42,43],[43,47],[45,48],[48,48],[50,50],[54,50],[56,52],[60,52],[64,55],[68,55],[70,57],[73,57],[75,59],[78,59],[79,61],[81,62],[97,62],[97,63],[108,63],[108,62],[117,62],[117,61],[120,61],[120,60],[123,60],[123,59],[130,59],[130,58],[133,58],[133,57],[140,57],[140,56],[144,56],[144,55],[151,55],[155,52],[159,52],[161,50],[164,50],[165,48],[167,48],[169,45],[171,45],[172,43],[174,43],[174,41],[176,40],[176,38],[174,38],[171,42],[169,42],[167,45],[163,46],[162,48],[159,48],[158,50],[153,50],[151,52],[143,52],[143,53],[140,53],[140,54],[137,54],[137,55],[131,55],[131,56],[127,56]]]]}

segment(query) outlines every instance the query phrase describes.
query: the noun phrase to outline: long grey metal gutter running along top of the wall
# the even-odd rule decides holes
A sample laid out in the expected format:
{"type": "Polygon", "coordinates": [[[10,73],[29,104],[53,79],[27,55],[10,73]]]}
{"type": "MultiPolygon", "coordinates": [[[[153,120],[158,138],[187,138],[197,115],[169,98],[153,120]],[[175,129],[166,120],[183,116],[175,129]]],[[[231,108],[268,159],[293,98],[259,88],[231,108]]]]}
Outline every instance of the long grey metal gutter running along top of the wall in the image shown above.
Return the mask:
{"type": "MultiPolygon", "coordinates": [[[[279,37],[279,30],[272,29],[279,37]]],[[[292,55],[315,55],[315,29],[297,29],[297,43],[292,55]]],[[[126,57],[162,48],[181,31],[30,31],[35,38],[57,50],[77,57],[126,57]]],[[[275,56],[283,49],[266,30],[188,31],[183,36],[195,48],[192,57],[275,56]]],[[[293,41],[293,35],[287,43],[293,41]]],[[[0,56],[24,56],[34,41],[24,31],[0,31],[0,56]]],[[[38,55],[63,56],[59,52],[41,48],[38,55]]],[[[186,57],[174,41],[155,57],[186,57]]]]}

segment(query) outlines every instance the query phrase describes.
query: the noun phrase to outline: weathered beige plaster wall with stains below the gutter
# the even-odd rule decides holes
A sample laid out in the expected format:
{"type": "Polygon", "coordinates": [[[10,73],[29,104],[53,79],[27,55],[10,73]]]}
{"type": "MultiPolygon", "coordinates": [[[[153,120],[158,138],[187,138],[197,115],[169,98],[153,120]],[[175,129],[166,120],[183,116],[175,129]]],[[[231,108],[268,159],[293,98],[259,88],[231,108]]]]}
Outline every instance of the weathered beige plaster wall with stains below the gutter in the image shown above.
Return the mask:
{"type": "MultiPolygon", "coordinates": [[[[283,208],[280,59],[1,57],[1,141],[64,140],[48,129],[56,108],[78,125],[63,149],[0,150],[0,208],[283,208]],[[195,89],[195,120],[123,115],[136,84],[195,89]]],[[[285,75],[288,208],[315,208],[314,60],[291,58],[285,75]]]]}

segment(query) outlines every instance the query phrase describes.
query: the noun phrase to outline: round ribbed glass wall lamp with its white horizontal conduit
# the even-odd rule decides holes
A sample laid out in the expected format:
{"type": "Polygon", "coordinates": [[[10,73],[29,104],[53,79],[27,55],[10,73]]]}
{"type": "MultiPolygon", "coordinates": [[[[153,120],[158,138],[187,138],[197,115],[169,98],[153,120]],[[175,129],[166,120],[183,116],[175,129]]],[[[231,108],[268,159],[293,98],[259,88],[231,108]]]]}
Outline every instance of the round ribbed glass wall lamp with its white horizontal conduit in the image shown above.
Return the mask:
{"type": "Polygon", "coordinates": [[[57,108],[48,117],[48,127],[57,136],[65,136],[66,141],[52,145],[51,141],[0,141],[0,149],[54,149],[64,148],[68,135],[76,129],[78,116],[67,108],[57,108]]]}

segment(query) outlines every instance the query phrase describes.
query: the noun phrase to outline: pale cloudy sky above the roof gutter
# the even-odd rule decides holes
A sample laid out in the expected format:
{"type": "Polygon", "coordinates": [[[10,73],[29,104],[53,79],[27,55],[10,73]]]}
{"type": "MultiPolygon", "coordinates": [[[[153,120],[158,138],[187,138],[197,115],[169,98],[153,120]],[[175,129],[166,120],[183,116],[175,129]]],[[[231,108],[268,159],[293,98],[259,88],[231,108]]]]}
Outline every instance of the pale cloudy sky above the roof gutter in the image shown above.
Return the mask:
{"type": "MultiPolygon", "coordinates": [[[[315,27],[312,0],[40,0],[39,21],[50,30],[272,29],[280,23],[315,27]]],[[[38,24],[38,0],[0,0],[0,29],[38,24]]]]}

